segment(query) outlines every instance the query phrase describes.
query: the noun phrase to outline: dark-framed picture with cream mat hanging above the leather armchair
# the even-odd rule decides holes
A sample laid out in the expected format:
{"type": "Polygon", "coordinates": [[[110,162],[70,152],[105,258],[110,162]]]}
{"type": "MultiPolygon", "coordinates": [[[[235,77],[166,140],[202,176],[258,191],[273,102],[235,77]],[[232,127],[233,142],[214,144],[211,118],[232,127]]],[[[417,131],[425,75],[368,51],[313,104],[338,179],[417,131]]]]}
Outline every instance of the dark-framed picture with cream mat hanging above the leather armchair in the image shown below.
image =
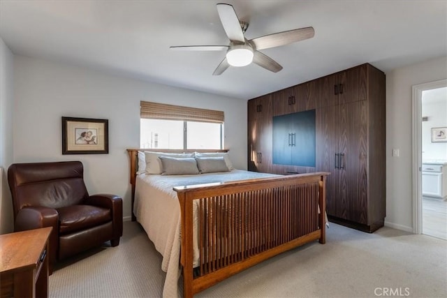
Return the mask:
{"type": "Polygon", "coordinates": [[[62,117],[62,154],[108,154],[108,120],[62,117]]]}

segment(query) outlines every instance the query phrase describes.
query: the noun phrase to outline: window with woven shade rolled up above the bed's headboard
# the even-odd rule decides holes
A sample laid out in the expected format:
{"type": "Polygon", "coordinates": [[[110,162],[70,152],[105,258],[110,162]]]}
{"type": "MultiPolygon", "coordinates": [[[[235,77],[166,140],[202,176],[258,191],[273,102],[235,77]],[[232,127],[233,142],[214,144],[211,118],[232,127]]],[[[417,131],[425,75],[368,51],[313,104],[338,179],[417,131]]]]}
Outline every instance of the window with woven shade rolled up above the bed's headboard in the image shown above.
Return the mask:
{"type": "Polygon", "coordinates": [[[142,101],[140,148],[223,149],[223,112],[142,101]]]}

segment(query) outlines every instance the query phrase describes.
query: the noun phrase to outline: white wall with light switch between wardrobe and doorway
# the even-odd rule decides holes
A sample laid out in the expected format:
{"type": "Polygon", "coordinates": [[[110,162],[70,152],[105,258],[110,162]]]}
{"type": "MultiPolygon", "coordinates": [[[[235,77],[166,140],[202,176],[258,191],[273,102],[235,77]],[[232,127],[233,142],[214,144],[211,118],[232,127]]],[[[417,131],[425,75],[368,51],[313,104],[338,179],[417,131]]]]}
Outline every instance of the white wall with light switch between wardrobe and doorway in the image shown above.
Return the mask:
{"type": "Polygon", "coordinates": [[[386,225],[413,230],[411,86],[447,78],[447,57],[386,73],[386,225]],[[400,156],[393,157],[394,149],[400,156]]]}

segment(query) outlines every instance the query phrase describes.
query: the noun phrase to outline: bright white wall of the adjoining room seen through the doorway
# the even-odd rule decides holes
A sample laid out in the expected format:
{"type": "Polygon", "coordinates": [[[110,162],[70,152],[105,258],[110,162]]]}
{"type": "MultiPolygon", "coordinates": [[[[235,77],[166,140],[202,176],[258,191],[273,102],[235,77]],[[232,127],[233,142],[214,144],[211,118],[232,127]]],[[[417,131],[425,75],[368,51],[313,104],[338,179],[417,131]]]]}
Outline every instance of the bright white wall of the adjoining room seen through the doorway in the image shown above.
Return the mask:
{"type": "Polygon", "coordinates": [[[422,160],[447,161],[447,142],[432,142],[432,128],[447,127],[447,87],[442,92],[434,94],[432,91],[423,91],[422,114],[427,121],[422,123],[422,160]],[[437,95],[444,94],[439,99],[437,95]]]}

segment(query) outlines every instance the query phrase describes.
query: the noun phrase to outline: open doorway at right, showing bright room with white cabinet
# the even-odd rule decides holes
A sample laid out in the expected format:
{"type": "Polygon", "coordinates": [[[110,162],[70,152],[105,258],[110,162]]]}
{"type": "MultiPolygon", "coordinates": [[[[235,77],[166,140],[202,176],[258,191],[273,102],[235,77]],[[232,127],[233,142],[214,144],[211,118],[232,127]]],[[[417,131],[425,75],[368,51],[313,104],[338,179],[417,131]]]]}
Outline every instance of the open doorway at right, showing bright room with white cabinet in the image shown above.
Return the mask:
{"type": "MultiPolygon", "coordinates": [[[[413,232],[447,240],[447,202],[434,184],[435,177],[442,177],[439,169],[447,176],[447,142],[436,137],[437,129],[447,126],[447,80],[413,86],[412,102],[413,232]]],[[[439,186],[442,183],[439,180],[439,186]]]]}

